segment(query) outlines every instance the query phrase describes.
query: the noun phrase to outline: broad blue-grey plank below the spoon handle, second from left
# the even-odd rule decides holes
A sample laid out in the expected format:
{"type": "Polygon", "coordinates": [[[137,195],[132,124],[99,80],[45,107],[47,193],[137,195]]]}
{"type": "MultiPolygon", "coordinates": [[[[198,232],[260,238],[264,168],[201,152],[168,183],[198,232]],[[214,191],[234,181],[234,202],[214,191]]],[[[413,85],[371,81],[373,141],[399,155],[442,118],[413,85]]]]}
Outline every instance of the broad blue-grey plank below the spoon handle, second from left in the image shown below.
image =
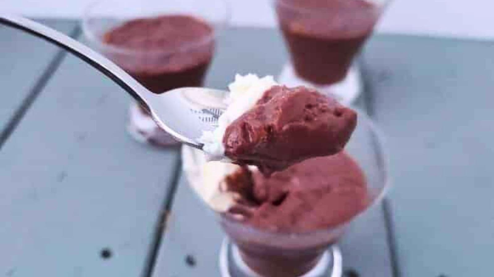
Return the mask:
{"type": "Polygon", "coordinates": [[[130,138],[129,102],[79,59],[63,61],[2,148],[0,275],[142,274],[178,149],[130,138]]]}

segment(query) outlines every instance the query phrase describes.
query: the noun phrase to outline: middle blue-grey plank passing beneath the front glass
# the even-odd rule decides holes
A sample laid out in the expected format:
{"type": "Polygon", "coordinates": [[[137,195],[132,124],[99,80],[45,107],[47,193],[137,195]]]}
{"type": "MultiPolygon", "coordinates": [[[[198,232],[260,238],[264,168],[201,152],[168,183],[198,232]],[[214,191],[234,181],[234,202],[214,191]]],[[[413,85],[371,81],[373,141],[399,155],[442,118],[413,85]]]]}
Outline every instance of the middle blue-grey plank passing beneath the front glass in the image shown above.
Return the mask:
{"type": "MultiPolygon", "coordinates": [[[[238,69],[245,70],[241,73],[277,74],[287,59],[275,30],[231,30],[219,46],[208,82],[220,88],[225,88],[238,69]]],[[[224,234],[214,213],[201,203],[184,176],[172,207],[153,276],[219,276],[218,253],[224,234]],[[194,258],[194,266],[187,263],[188,255],[194,258]]],[[[392,276],[382,206],[371,209],[352,227],[341,242],[345,268],[363,277],[392,276]]]]}

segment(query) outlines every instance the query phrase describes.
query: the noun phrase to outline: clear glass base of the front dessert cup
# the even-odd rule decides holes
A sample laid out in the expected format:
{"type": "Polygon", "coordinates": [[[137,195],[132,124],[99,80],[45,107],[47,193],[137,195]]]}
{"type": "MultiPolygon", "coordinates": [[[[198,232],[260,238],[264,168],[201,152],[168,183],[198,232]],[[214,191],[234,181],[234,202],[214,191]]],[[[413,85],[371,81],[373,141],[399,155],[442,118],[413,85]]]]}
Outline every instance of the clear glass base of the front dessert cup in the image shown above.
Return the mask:
{"type": "MultiPolygon", "coordinates": [[[[238,247],[228,238],[223,239],[219,254],[221,277],[263,277],[252,271],[242,260],[238,247]]],[[[342,260],[338,246],[332,245],[308,273],[299,277],[341,277],[342,260]]]]}

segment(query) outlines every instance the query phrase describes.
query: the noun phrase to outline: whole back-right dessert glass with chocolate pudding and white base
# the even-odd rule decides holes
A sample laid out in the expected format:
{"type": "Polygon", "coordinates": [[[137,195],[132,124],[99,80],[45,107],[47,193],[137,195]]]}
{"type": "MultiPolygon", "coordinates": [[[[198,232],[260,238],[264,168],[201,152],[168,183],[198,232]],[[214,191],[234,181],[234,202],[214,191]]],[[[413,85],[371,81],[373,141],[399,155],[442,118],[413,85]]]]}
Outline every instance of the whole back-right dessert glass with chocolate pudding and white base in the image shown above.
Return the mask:
{"type": "Polygon", "coordinates": [[[305,85],[351,104],[360,93],[352,66],[387,0],[274,0],[290,54],[278,81],[305,85]]]}

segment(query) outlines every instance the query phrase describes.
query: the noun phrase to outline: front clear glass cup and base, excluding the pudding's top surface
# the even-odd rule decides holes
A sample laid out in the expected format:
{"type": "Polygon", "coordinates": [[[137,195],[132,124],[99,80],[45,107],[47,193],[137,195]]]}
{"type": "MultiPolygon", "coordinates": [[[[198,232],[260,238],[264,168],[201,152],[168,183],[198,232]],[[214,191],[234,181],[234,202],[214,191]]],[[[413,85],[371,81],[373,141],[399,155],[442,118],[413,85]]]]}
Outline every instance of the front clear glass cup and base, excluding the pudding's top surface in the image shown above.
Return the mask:
{"type": "MultiPolygon", "coordinates": [[[[364,112],[358,111],[357,128],[345,149],[360,166],[367,180],[369,203],[365,210],[336,226],[302,233],[259,229],[235,219],[228,212],[217,212],[219,222],[227,234],[219,257],[223,277],[341,276],[342,259],[336,243],[351,221],[378,203],[388,188],[384,142],[364,112]]],[[[184,147],[183,161],[190,184],[196,191],[204,189],[201,173],[205,163],[203,153],[184,147]]],[[[203,192],[199,193],[204,195],[203,192]]],[[[213,198],[211,193],[209,198],[213,198]]]]}

